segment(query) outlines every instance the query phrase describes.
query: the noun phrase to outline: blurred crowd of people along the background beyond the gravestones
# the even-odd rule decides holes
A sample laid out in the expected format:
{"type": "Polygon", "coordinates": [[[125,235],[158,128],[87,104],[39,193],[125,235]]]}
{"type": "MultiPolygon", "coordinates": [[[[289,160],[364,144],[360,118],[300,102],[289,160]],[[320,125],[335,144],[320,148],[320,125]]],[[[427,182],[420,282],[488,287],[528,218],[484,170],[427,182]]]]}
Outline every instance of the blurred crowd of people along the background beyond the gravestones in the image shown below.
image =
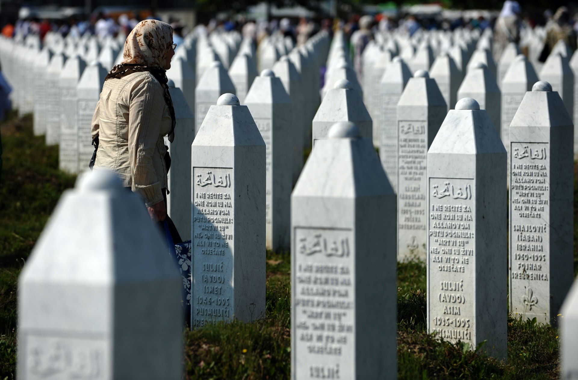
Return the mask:
{"type": "MultiPolygon", "coordinates": [[[[31,17],[17,20],[14,25],[7,24],[1,32],[6,37],[12,37],[16,34],[27,36],[30,33],[35,33],[43,39],[47,32],[53,31],[61,33],[62,36],[80,37],[84,33],[90,33],[102,38],[116,36],[119,32],[128,35],[132,28],[144,18],[156,17],[144,15],[144,17],[139,18],[133,13],[114,16],[93,13],[85,18],[69,17],[66,20],[39,20],[31,17]]],[[[347,20],[340,18],[317,18],[313,20],[309,17],[294,17],[257,21],[243,15],[236,15],[221,19],[211,18],[207,22],[197,25],[194,32],[208,34],[213,31],[238,31],[244,37],[249,37],[257,42],[266,35],[280,34],[283,37],[290,37],[294,44],[299,46],[321,29],[330,34],[337,29],[342,29],[347,39],[350,40],[352,55],[361,57],[365,46],[373,39],[375,33],[397,29],[398,32],[412,36],[420,29],[453,31],[456,28],[467,28],[483,31],[492,28],[494,31],[494,54],[499,57],[507,43],[520,42],[521,28],[534,28],[536,25],[540,25],[546,30],[544,57],[540,59],[542,61],[546,59],[551,48],[560,39],[564,39],[572,50],[576,50],[577,21],[577,14],[572,16],[567,7],[560,7],[556,12],[546,10],[540,17],[536,17],[535,14],[530,17],[523,16],[520,3],[515,0],[506,0],[499,16],[491,18],[478,16],[470,19],[463,17],[449,19],[443,18],[441,14],[433,16],[405,14],[394,17],[388,13],[379,13],[365,16],[352,14],[347,20]]],[[[171,18],[168,22],[174,29],[173,40],[179,45],[190,30],[176,18],[171,18]]]]}

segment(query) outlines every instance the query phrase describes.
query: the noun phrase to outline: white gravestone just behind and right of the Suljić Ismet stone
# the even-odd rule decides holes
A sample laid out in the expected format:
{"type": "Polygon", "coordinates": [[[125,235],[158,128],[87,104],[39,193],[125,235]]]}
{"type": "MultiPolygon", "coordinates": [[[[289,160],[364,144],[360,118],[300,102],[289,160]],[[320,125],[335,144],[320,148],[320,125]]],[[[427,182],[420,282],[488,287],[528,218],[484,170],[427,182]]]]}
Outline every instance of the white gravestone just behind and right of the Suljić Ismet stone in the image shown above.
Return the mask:
{"type": "Polygon", "coordinates": [[[266,246],[287,251],[290,246],[291,97],[272,70],[263,70],[247,93],[245,104],[266,145],[266,246]]]}

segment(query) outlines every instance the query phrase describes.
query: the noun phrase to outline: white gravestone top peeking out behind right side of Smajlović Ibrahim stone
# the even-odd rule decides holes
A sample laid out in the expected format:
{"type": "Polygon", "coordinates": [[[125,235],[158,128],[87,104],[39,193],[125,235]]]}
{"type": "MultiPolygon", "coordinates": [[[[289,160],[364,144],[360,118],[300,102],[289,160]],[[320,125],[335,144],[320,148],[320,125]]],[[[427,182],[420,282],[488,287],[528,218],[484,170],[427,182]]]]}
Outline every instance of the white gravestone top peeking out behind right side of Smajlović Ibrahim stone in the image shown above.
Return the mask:
{"type": "Polygon", "coordinates": [[[574,74],[568,58],[560,53],[550,54],[540,70],[540,80],[549,82],[553,91],[562,97],[568,114],[574,118],[574,74]]]}

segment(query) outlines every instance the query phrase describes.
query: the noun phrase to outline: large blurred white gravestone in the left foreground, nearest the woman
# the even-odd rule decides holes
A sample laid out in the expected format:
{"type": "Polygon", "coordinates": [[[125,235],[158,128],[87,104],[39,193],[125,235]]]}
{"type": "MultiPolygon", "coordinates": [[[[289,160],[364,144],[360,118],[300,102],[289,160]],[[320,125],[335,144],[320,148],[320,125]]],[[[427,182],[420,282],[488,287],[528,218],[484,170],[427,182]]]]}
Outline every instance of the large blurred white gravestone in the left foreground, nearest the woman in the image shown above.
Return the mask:
{"type": "Polygon", "coordinates": [[[84,174],[18,280],[18,379],[180,379],[182,286],[142,200],[84,174]]]}

